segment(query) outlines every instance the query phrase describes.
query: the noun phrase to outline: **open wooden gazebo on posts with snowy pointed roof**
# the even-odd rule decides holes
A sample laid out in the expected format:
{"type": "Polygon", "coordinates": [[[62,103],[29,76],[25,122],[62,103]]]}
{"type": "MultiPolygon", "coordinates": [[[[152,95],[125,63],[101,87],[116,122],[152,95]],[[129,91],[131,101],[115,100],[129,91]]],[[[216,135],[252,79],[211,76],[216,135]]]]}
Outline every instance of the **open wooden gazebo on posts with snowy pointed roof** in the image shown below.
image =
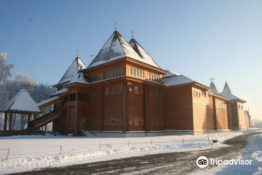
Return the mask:
{"type": "MultiPolygon", "coordinates": [[[[36,123],[36,114],[41,113],[36,102],[32,99],[29,93],[22,88],[12,99],[10,99],[6,105],[0,109],[1,112],[5,113],[4,129],[7,128],[7,114],[9,113],[9,127],[8,130],[12,130],[12,118],[13,114],[28,114],[28,123],[30,122],[31,115],[34,114],[34,124],[36,123]]],[[[35,128],[35,127],[33,127],[35,128]]]]}

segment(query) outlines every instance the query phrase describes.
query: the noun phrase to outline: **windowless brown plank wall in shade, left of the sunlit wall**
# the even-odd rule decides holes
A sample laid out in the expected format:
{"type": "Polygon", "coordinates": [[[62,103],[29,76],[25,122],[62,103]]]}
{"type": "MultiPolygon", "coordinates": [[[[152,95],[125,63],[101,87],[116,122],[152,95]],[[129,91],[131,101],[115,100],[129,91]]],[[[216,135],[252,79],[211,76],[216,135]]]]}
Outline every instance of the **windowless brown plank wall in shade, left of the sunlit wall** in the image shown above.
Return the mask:
{"type": "Polygon", "coordinates": [[[193,130],[192,86],[166,88],[164,110],[165,129],[193,130]]]}

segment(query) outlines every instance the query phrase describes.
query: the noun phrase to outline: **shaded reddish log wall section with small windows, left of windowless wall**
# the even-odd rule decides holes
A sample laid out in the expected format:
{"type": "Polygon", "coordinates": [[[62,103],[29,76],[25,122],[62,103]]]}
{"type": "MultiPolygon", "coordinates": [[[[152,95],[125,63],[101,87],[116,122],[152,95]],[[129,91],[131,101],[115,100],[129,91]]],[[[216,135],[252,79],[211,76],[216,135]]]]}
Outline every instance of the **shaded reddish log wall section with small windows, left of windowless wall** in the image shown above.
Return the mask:
{"type": "Polygon", "coordinates": [[[161,131],[165,129],[164,123],[164,88],[147,86],[147,115],[150,124],[150,131],[161,131]],[[155,94],[157,91],[157,94],[155,94]],[[153,122],[153,125],[151,124],[153,122]],[[158,125],[157,125],[158,123],[158,125]]]}

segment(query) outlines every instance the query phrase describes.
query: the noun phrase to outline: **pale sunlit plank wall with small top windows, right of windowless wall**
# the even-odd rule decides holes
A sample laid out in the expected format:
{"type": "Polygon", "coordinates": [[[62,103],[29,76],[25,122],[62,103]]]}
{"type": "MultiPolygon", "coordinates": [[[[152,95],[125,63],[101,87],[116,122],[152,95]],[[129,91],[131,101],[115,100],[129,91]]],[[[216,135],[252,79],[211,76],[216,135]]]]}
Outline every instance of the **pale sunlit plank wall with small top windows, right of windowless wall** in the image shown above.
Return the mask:
{"type": "Polygon", "coordinates": [[[204,94],[201,95],[201,90],[200,88],[192,87],[194,130],[207,129],[206,102],[204,94]],[[195,91],[197,92],[197,96],[194,95],[195,91]]]}

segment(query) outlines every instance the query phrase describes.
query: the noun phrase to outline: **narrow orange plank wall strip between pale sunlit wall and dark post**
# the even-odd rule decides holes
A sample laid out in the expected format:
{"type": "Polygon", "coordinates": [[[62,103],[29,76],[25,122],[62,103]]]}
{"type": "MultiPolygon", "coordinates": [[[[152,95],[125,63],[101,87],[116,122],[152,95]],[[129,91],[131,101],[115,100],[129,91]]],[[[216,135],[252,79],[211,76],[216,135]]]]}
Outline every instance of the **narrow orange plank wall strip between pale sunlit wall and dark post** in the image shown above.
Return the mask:
{"type": "Polygon", "coordinates": [[[204,95],[206,99],[209,99],[209,104],[206,104],[206,128],[207,130],[215,130],[213,97],[210,95],[207,98],[205,93],[204,95]]]}

